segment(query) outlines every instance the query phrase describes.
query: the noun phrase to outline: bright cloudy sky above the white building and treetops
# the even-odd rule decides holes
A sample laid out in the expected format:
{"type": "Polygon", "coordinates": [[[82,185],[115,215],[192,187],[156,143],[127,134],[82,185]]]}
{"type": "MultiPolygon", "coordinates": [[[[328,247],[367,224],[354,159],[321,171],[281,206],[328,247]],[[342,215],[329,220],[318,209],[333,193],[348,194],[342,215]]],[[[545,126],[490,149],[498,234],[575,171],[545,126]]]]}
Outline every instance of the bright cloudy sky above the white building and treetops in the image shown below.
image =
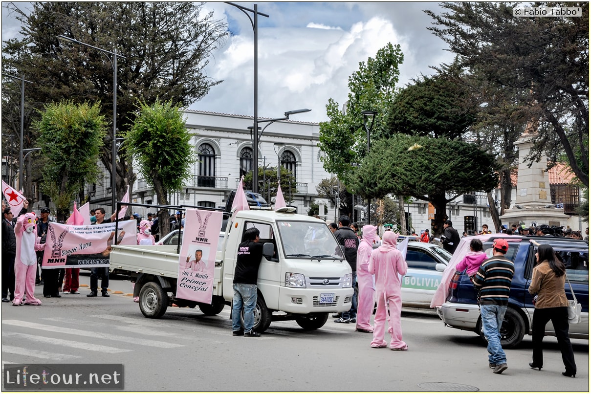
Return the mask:
{"type": "MultiPolygon", "coordinates": [[[[236,2],[254,9],[254,2],[236,2]]],[[[287,110],[312,111],[292,119],[326,121],[330,97],[342,105],[348,77],[359,62],[375,57],[387,43],[400,44],[404,63],[400,84],[433,73],[430,66],[452,61],[446,45],[427,27],[423,10],[436,2],[259,2],[258,115],[278,118],[287,110]]],[[[22,4],[24,8],[27,4],[22,4]]],[[[228,22],[232,37],[213,53],[207,75],[223,83],[190,109],[252,116],[254,112],[254,34],[251,22],[234,6],[207,2],[216,19],[228,22]]],[[[249,13],[251,14],[251,13],[249,13]]],[[[252,17],[252,14],[251,14],[252,17]]],[[[2,4],[2,40],[14,37],[18,21],[2,4]]]]}

